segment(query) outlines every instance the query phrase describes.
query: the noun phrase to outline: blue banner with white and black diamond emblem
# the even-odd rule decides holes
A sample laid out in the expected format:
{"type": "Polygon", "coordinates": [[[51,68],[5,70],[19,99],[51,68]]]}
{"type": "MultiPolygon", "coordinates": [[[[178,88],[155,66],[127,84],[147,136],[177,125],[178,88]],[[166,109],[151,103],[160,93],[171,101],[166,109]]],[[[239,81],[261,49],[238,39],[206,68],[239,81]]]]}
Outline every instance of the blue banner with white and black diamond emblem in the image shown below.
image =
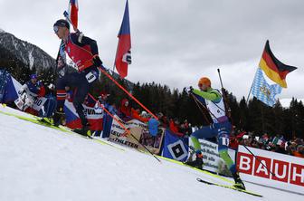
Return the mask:
{"type": "Polygon", "coordinates": [[[180,138],[166,129],[162,156],[183,161],[188,158],[189,138],[180,138]]]}

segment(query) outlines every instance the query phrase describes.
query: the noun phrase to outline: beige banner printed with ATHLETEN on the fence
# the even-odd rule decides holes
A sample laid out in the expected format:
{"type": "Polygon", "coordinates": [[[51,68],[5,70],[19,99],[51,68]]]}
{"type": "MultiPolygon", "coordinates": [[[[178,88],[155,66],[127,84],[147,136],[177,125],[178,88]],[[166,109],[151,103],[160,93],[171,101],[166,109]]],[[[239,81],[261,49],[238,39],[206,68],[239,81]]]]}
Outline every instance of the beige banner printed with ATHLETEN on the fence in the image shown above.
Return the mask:
{"type": "Polygon", "coordinates": [[[160,152],[165,129],[158,129],[157,136],[154,137],[149,133],[146,123],[139,120],[129,120],[124,122],[123,120],[120,120],[117,115],[115,115],[115,117],[121,124],[124,125],[125,128],[130,131],[130,133],[132,133],[136,139],[130,135],[122,136],[123,134],[126,134],[125,129],[123,129],[116,120],[113,120],[109,133],[110,141],[117,142],[130,148],[138,148],[145,151],[146,149],[140,145],[143,144],[154,154],[158,154],[160,152]]]}

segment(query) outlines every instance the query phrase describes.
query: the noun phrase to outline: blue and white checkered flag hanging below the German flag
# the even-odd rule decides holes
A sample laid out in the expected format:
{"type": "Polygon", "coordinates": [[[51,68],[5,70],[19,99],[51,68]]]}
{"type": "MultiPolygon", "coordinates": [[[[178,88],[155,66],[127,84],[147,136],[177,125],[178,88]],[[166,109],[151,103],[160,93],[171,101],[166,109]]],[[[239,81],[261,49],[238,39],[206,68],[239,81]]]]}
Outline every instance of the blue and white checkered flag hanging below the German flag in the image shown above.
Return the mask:
{"type": "Polygon", "coordinates": [[[273,106],[276,103],[275,96],[282,91],[279,84],[268,84],[260,68],[255,74],[252,84],[252,95],[266,105],[273,106]]]}

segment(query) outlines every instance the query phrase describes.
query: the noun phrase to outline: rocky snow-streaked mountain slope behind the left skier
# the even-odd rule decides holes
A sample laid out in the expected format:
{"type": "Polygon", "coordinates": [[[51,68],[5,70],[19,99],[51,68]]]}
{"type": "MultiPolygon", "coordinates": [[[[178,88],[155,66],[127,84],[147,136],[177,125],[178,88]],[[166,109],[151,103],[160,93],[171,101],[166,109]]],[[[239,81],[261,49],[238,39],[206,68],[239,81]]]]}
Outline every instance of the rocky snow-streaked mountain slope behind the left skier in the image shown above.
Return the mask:
{"type": "Polygon", "coordinates": [[[14,55],[14,59],[23,62],[31,70],[33,67],[37,71],[54,68],[55,60],[42,49],[32,43],[27,43],[18,39],[13,34],[6,33],[1,29],[0,31],[0,49],[1,60],[12,59],[6,55],[14,55]]]}

